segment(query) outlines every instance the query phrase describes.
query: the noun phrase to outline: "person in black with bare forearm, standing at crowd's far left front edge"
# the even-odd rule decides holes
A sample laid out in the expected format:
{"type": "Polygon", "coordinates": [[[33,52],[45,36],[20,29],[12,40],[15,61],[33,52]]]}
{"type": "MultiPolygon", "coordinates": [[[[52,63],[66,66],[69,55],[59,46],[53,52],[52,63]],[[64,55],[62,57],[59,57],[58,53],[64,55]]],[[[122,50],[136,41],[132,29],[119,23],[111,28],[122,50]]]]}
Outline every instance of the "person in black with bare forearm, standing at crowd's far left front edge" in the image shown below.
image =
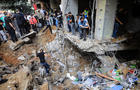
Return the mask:
{"type": "Polygon", "coordinates": [[[6,24],[6,30],[7,30],[7,32],[8,32],[8,34],[9,34],[9,36],[11,37],[11,40],[13,41],[13,42],[16,42],[18,39],[17,39],[17,37],[16,37],[16,33],[15,33],[15,27],[13,26],[13,24],[12,24],[12,21],[11,21],[11,17],[10,17],[11,15],[8,13],[7,15],[6,15],[6,17],[5,17],[5,24],[6,24]]]}

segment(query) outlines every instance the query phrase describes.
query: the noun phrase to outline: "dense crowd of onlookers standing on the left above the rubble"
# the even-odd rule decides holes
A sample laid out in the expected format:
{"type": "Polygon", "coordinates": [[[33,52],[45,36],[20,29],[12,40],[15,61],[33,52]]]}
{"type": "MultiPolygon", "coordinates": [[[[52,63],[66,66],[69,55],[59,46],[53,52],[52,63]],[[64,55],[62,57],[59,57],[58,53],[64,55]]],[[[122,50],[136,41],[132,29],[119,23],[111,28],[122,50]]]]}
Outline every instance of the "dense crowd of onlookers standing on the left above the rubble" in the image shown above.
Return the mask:
{"type": "Polygon", "coordinates": [[[11,39],[16,42],[18,38],[30,33],[31,30],[38,33],[44,26],[52,33],[52,25],[58,29],[63,26],[62,12],[56,9],[50,11],[38,9],[29,15],[23,14],[20,10],[16,10],[15,13],[5,11],[0,14],[0,40],[6,42],[11,39]]]}

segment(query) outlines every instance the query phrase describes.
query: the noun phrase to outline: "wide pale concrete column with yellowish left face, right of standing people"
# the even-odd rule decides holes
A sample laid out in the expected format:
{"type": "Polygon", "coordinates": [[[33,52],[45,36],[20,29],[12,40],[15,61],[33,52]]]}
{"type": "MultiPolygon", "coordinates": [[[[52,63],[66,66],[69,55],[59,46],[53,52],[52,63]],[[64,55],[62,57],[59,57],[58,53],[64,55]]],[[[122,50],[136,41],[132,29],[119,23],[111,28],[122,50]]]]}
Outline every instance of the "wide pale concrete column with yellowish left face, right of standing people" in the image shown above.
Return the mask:
{"type": "Polygon", "coordinates": [[[117,0],[97,0],[95,39],[111,39],[116,15],[117,0]]]}

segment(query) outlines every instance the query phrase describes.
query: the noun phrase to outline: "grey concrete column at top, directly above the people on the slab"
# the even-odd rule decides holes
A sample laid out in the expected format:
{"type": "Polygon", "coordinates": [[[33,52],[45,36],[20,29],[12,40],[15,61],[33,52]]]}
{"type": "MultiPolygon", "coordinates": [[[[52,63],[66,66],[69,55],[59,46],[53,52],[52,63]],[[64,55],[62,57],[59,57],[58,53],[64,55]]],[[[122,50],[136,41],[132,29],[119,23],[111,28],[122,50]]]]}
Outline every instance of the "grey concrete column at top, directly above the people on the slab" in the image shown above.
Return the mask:
{"type": "Polygon", "coordinates": [[[76,15],[78,13],[78,0],[61,0],[61,6],[64,17],[64,28],[67,29],[65,14],[71,12],[76,19],[76,15]]]}

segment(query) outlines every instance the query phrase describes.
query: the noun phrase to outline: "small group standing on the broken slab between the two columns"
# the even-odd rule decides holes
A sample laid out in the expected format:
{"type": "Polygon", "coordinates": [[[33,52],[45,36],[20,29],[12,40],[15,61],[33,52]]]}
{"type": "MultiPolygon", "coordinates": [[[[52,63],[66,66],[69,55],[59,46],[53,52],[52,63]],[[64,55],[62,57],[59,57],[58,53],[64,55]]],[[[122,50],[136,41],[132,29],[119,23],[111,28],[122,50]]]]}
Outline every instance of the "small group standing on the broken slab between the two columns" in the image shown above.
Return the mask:
{"type": "Polygon", "coordinates": [[[80,39],[86,41],[87,33],[90,30],[88,11],[84,10],[83,13],[77,14],[76,21],[71,12],[66,14],[66,18],[69,32],[72,32],[73,35],[79,32],[80,39]]]}

